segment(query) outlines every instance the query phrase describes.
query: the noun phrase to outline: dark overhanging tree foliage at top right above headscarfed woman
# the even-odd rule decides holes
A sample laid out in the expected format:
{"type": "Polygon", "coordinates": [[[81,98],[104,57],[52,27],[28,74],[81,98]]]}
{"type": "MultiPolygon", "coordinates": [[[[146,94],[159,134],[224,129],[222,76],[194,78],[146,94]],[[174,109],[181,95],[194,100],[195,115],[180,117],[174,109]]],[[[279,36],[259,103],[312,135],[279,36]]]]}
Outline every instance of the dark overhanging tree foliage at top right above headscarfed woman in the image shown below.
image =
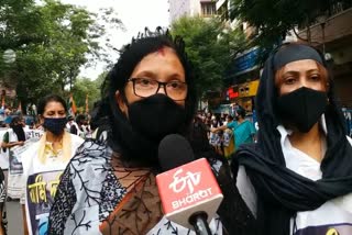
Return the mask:
{"type": "MultiPolygon", "coordinates": [[[[349,0],[230,0],[231,19],[242,20],[256,29],[252,45],[272,48],[297,26],[305,27],[321,14],[331,15],[337,3],[349,0]]],[[[298,35],[297,35],[298,36],[298,35]]],[[[301,38],[310,41],[310,38],[301,38]]]]}

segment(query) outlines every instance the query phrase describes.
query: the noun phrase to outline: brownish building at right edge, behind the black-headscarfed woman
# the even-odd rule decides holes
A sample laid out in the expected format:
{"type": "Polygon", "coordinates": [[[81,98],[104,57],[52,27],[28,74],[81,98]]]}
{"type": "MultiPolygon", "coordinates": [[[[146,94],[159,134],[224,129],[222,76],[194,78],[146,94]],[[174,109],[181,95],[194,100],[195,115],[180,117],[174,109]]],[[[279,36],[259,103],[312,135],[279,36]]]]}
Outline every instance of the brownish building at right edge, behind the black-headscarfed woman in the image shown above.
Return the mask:
{"type": "Polygon", "coordinates": [[[352,109],[352,3],[331,5],[330,14],[301,29],[299,36],[330,59],[340,104],[352,109]]]}

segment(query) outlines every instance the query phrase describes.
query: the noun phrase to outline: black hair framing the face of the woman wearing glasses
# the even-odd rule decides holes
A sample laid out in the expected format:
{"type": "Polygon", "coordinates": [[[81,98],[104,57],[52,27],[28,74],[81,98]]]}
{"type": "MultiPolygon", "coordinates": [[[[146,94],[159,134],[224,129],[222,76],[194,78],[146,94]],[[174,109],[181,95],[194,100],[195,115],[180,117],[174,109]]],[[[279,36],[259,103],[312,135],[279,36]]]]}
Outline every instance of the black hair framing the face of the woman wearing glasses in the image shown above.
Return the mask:
{"type": "MultiPolygon", "coordinates": [[[[97,102],[91,115],[91,123],[101,123],[105,116],[110,116],[110,122],[118,116],[122,116],[122,112],[116,102],[116,92],[120,91],[124,93],[123,89],[135,66],[148,54],[156,52],[160,48],[169,47],[175,51],[179,58],[184,70],[186,82],[188,87],[187,98],[185,100],[186,120],[187,124],[191,123],[191,120],[196,112],[196,85],[195,74],[185,52],[185,43],[182,37],[173,37],[168,31],[166,33],[160,33],[146,37],[132,40],[131,44],[122,47],[121,55],[118,63],[110,70],[101,87],[101,100],[97,102]]],[[[106,119],[105,119],[106,120],[106,119]]]]}

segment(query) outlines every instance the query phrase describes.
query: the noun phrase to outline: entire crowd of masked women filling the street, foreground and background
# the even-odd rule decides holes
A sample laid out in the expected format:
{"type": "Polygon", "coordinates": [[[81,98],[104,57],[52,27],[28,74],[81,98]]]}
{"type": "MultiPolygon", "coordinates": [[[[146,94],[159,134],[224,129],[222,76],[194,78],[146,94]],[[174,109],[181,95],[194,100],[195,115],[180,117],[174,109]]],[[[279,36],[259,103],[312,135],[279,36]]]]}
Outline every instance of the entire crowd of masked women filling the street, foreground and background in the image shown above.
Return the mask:
{"type": "Polygon", "coordinates": [[[144,35],[120,52],[91,118],[67,115],[50,94],[35,141],[12,120],[1,147],[22,170],[7,180],[0,170],[0,210],[15,176],[25,234],[195,234],[161,206],[158,146],[169,134],[208,160],[222,191],[211,234],[352,234],[352,141],[319,51],[292,43],[272,53],[255,101],[258,130],[241,107],[196,113],[199,78],[180,37],[144,35]]]}

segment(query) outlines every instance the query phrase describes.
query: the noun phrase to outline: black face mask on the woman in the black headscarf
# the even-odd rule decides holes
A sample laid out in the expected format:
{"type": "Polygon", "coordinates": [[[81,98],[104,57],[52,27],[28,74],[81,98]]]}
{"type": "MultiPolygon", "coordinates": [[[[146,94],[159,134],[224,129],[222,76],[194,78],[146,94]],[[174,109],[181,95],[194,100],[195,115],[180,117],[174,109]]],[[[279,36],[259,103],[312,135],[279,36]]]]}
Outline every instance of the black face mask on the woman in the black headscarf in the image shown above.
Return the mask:
{"type": "Polygon", "coordinates": [[[277,99],[278,114],[283,121],[307,133],[324,113],[328,104],[327,93],[310,88],[299,88],[277,99]]]}

